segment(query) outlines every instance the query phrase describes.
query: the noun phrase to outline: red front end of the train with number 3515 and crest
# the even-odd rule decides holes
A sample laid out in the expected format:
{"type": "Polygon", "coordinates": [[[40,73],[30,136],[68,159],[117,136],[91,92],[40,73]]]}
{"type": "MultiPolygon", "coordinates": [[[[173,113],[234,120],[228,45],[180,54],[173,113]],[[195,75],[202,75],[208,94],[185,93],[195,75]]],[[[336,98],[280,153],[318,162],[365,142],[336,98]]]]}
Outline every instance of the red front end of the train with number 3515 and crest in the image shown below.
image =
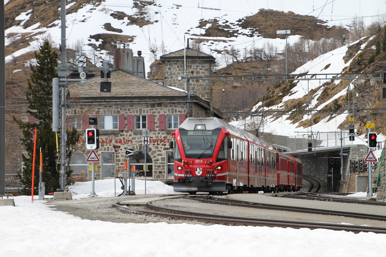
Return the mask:
{"type": "Polygon", "coordinates": [[[229,133],[218,127],[215,120],[193,119],[185,120],[172,134],[175,138],[174,192],[227,191],[229,133]]]}

